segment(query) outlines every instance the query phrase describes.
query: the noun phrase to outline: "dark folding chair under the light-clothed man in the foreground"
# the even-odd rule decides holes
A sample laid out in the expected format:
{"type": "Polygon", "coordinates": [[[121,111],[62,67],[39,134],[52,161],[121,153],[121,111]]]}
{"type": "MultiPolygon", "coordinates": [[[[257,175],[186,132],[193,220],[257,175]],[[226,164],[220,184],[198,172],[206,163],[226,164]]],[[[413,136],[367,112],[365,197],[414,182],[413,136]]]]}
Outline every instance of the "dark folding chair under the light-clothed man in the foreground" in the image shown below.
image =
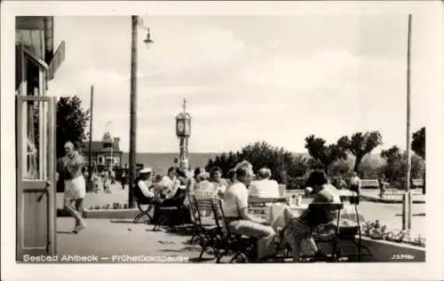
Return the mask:
{"type": "Polygon", "coordinates": [[[231,233],[224,213],[224,201],[222,199],[212,198],[212,208],[217,226],[214,235],[216,262],[219,263],[223,256],[230,253],[234,254],[229,261],[230,263],[236,261],[238,257],[241,257],[243,262],[248,261],[251,251],[256,248],[258,239],[245,238],[242,235],[231,233]]]}

